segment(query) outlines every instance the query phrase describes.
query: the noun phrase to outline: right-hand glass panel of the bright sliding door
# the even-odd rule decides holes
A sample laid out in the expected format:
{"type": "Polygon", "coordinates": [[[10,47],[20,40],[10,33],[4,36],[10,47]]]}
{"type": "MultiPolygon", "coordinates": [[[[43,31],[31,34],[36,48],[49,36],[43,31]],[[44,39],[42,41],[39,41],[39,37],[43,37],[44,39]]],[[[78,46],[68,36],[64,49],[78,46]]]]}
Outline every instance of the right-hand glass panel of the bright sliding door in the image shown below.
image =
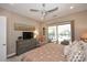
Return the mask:
{"type": "Polygon", "coordinates": [[[70,34],[70,24],[62,24],[57,25],[57,36],[58,36],[58,43],[62,41],[70,41],[72,34],[70,34]]]}

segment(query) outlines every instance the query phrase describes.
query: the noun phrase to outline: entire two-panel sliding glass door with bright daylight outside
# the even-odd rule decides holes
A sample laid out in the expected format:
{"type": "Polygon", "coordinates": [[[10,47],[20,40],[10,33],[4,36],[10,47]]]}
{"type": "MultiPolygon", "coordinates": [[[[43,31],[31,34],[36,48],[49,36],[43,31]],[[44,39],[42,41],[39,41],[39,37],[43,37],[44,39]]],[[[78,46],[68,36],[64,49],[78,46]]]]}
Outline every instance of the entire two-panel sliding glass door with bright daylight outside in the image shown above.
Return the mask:
{"type": "Polygon", "coordinates": [[[72,41],[70,23],[48,26],[48,42],[72,41]]]}

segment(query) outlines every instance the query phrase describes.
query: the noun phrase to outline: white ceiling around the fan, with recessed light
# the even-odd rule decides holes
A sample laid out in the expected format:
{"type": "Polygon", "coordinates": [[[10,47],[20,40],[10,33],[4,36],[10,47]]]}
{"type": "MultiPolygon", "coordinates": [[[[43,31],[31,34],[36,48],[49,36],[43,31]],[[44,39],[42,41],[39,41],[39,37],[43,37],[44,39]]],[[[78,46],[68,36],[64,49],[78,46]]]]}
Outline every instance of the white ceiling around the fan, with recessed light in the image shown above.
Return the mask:
{"type": "MultiPolygon", "coordinates": [[[[22,14],[24,17],[29,17],[37,21],[42,21],[41,12],[30,11],[30,9],[42,10],[42,3],[13,3],[13,4],[0,3],[0,7],[10,11],[17,12],[19,14],[22,14]]],[[[70,13],[76,13],[79,11],[87,10],[87,3],[46,3],[45,10],[47,11],[55,7],[58,7],[58,10],[52,13],[48,13],[44,19],[45,21],[51,20],[53,18],[64,17],[70,13]],[[70,9],[70,7],[74,7],[74,9],[70,9]]]]}

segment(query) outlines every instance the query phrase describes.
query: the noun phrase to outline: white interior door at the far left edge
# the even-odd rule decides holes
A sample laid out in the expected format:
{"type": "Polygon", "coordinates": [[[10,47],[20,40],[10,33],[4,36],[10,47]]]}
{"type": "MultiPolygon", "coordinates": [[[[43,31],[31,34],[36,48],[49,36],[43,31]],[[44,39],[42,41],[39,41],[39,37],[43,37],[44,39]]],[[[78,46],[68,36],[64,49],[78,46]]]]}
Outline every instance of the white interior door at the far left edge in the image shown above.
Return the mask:
{"type": "Polygon", "coordinates": [[[0,17],[0,62],[7,61],[7,19],[0,17]]]}

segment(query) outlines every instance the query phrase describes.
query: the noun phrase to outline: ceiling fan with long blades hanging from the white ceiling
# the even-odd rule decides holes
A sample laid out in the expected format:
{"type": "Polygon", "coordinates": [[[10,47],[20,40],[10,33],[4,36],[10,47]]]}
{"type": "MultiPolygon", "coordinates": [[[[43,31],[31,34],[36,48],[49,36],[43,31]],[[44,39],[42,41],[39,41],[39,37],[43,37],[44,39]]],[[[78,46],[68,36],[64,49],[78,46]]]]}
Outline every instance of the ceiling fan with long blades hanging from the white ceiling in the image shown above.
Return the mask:
{"type": "Polygon", "coordinates": [[[42,18],[44,19],[47,15],[47,13],[52,13],[52,12],[58,10],[58,7],[55,7],[54,9],[46,11],[45,7],[46,7],[46,4],[42,3],[42,10],[30,9],[30,11],[32,11],[32,12],[41,12],[42,13],[42,18]]]}

